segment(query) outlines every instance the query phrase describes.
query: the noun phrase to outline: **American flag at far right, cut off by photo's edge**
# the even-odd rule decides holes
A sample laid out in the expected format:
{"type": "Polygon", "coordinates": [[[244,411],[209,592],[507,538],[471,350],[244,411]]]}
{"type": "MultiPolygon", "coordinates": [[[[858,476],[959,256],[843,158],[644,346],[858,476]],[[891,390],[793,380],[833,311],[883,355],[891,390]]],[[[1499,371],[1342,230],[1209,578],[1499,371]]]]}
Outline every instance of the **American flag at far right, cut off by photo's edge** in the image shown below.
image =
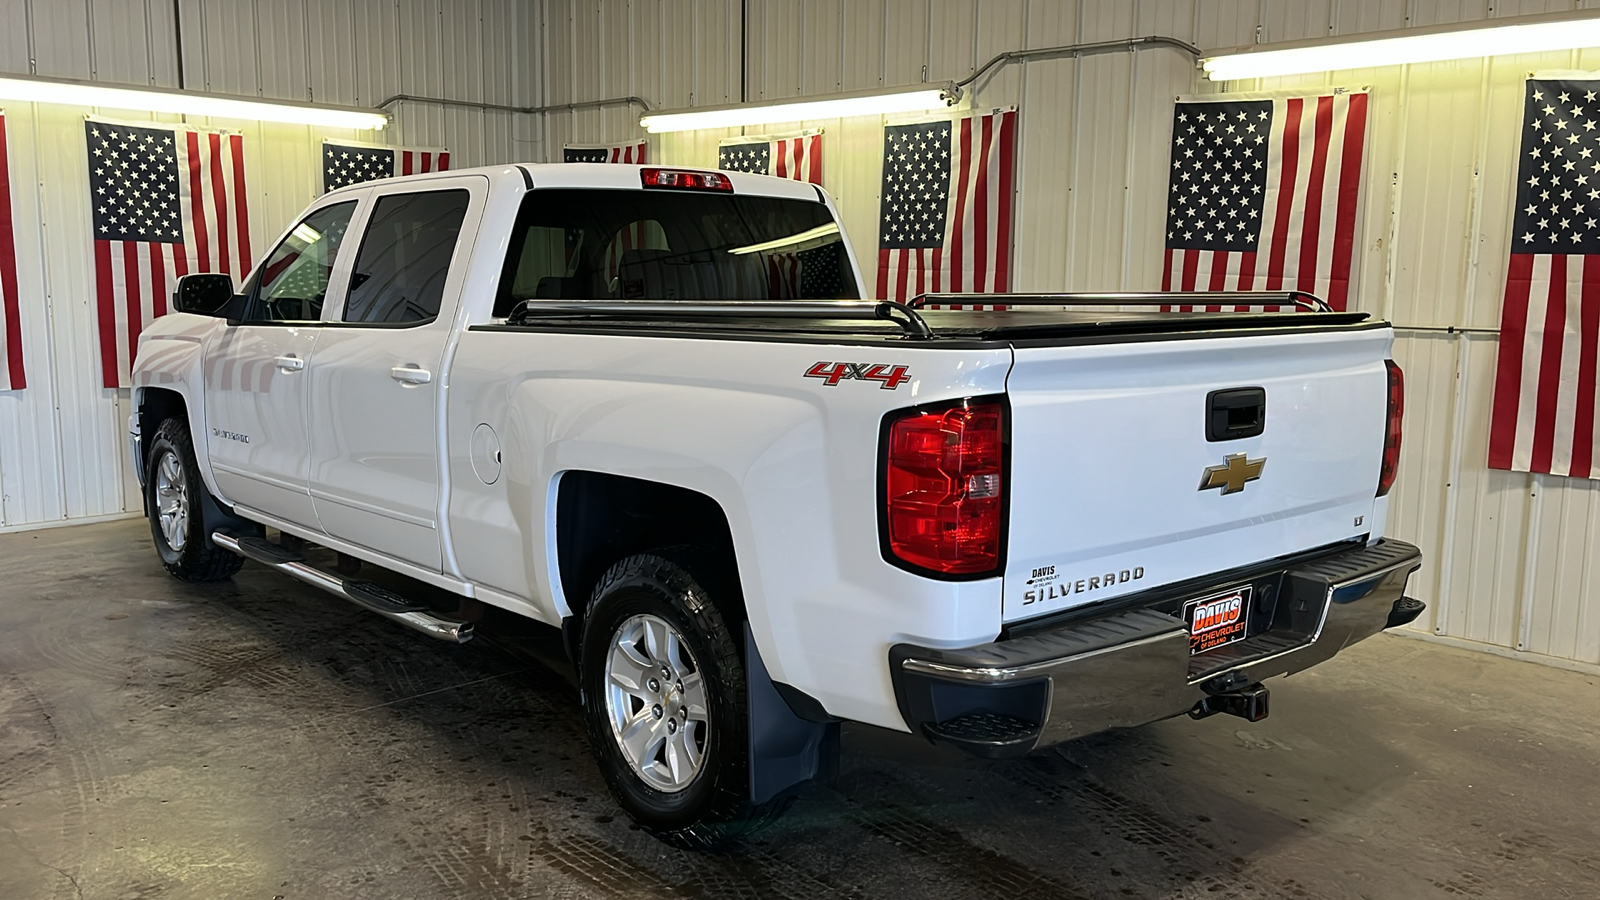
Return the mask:
{"type": "Polygon", "coordinates": [[[1526,83],[1490,468],[1600,477],[1600,80],[1526,83]]]}

